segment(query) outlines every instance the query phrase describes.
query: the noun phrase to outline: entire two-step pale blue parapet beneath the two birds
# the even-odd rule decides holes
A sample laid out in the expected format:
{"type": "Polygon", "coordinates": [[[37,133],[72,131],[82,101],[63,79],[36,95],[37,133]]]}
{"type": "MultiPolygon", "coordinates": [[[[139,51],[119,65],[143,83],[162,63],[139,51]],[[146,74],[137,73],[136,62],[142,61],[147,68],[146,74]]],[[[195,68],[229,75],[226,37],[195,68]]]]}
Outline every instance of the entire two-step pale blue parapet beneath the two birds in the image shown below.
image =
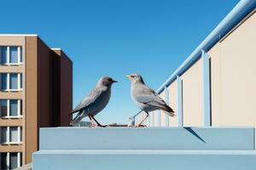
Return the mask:
{"type": "Polygon", "coordinates": [[[250,127],[49,127],[33,170],[254,170],[250,127]]]}

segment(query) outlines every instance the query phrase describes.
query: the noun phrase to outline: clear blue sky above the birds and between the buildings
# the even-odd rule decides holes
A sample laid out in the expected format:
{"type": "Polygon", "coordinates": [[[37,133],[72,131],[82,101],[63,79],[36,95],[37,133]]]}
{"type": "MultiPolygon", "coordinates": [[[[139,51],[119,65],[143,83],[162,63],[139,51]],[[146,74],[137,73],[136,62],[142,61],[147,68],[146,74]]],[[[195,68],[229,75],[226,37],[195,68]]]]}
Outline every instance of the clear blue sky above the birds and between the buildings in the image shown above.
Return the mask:
{"type": "Polygon", "coordinates": [[[128,122],[138,109],[125,75],[157,89],[238,0],[2,1],[0,33],[38,34],[73,60],[73,107],[99,77],[119,81],[96,118],[128,122]]]}

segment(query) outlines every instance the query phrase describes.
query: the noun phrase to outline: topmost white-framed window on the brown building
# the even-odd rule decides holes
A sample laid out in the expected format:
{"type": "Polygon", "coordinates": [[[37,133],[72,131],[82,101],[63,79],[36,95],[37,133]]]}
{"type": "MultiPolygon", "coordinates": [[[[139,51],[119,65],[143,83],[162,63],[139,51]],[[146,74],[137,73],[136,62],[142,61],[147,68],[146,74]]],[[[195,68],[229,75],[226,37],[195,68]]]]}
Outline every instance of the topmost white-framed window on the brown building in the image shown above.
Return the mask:
{"type": "Polygon", "coordinates": [[[0,47],[1,65],[22,64],[21,47],[0,47]]]}

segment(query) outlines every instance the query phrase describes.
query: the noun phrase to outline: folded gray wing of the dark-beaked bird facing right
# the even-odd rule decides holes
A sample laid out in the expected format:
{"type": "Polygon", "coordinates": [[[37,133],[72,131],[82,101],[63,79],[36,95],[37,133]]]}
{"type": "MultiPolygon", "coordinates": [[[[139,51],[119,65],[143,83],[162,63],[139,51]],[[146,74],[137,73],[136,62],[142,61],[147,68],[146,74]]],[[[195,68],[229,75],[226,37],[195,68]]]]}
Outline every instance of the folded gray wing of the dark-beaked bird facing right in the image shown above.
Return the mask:
{"type": "Polygon", "coordinates": [[[88,95],[85,96],[85,98],[75,107],[73,111],[70,112],[70,114],[73,114],[75,112],[81,111],[86,106],[92,104],[100,95],[102,94],[102,90],[100,88],[94,88],[88,95]]]}

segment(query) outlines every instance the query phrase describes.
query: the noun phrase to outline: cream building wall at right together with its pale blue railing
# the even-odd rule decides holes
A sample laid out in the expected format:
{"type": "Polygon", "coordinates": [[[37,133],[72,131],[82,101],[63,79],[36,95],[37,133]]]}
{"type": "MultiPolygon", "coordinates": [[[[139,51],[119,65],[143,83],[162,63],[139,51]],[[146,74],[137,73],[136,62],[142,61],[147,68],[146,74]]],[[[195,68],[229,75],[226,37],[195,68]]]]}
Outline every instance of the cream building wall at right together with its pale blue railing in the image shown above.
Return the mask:
{"type": "MultiPolygon", "coordinates": [[[[256,2],[241,1],[157,90],[148,127],[256,127],[256,2]]],[[[144,113],[135,116],[135,122],[144,113]]]]}

